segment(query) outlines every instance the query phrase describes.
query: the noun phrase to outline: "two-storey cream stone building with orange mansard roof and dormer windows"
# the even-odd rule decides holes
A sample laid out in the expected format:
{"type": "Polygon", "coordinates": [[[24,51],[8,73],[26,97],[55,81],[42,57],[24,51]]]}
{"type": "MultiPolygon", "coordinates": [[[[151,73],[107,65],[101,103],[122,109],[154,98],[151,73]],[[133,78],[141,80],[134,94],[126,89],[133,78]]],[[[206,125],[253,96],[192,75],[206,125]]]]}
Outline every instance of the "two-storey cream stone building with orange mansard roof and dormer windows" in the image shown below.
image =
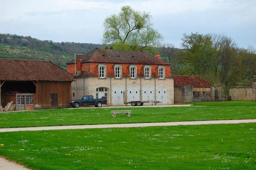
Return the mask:
{"type": "Polygon", "coordinates": [[[159,54],[154,57],[143,51],[96,48],[77,55],[76,63],[68,62],[67,71],[76,79],[72,99],[84,95],[107,97],[108,105],[124,105],[124,100],[174,102],[170,64],[159,54]]]}

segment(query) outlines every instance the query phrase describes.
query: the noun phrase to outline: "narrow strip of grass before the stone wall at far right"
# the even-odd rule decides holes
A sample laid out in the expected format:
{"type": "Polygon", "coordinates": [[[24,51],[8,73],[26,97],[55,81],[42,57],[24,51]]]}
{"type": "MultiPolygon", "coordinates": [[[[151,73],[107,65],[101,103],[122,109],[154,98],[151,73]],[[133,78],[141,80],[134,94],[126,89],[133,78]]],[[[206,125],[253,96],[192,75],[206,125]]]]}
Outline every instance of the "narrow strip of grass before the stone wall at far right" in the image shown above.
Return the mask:
{"type": "MultiPolygon", "coordinates": [[[[191,103],[187,103],[191,104],[191,103]]],[[[195,102],[196,106],[256,106],[255,101],[195,102]]]]}

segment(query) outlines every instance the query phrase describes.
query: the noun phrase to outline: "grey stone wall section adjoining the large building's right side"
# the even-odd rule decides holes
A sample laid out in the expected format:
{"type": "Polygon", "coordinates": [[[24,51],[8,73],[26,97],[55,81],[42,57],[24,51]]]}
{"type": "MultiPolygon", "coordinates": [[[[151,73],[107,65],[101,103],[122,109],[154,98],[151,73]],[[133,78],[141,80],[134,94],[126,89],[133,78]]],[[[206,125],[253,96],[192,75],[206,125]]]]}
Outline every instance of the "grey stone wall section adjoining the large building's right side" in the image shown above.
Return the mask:
{"type": "Polygon", "coordinates": [[[191,102],[193,98],[192,86],[174,86],[174,103],[191,102]]]}

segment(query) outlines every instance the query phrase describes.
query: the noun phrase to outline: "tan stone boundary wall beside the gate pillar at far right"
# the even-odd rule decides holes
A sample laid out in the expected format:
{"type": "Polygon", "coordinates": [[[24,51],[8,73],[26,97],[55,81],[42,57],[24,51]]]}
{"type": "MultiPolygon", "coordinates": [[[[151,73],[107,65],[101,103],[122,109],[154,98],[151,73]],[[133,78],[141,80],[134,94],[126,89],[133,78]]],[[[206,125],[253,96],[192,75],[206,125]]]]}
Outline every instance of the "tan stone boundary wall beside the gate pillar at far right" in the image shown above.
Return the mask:
{"type": "Polygon", "coordinates": [[[231,96],[231,100],[252,100],[252,87],[230,87],[229,96],[231,96]]]}

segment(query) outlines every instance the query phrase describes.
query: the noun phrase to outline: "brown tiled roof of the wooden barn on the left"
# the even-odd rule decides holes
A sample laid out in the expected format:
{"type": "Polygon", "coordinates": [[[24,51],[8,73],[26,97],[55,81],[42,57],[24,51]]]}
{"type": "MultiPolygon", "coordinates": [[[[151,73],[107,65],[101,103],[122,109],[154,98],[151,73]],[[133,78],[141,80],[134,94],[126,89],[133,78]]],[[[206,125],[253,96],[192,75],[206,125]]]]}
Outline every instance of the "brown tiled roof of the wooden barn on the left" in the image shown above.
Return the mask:
{"type": "Polygon", "coordinates": [[[74,78],[51,61],[0,58],[0,80],[74,81],[74,78]]]}

